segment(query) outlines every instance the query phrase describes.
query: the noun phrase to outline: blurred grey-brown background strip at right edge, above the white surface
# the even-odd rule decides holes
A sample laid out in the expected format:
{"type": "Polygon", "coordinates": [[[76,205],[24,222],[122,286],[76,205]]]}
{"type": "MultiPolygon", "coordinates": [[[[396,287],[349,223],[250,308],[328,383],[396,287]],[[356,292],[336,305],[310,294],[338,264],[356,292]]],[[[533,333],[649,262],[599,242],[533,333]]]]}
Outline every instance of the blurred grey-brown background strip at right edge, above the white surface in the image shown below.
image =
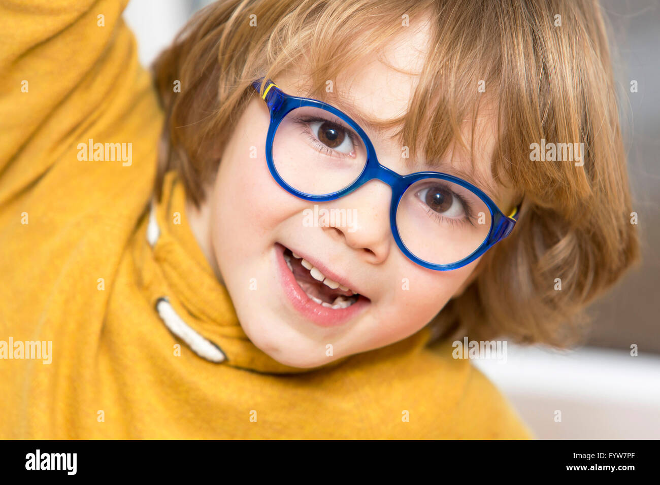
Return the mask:
{"type": "Polygon", "coordinates": [[[601,1],[612,26],[615,77],[622,91],[628,173],[639,216],[642,263],[591,307],[589,343],[660,353],[660,2],[601,1]],[[630,92],[630,81],[638,92],[630,92]]]}

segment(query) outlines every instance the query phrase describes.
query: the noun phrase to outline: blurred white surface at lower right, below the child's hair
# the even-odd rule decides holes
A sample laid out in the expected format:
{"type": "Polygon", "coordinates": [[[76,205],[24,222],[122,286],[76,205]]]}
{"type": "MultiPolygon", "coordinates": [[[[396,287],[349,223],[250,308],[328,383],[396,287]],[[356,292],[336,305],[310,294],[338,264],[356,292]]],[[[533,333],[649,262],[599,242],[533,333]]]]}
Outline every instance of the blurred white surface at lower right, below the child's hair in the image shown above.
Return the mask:
{"type": "Polygon", "coordinates": [[[508,346],[506,363],[474,360],[539,438],[660,439],[660,356],[508,346]],[[554,420],[561,411],[561,422],[554,420]]]}

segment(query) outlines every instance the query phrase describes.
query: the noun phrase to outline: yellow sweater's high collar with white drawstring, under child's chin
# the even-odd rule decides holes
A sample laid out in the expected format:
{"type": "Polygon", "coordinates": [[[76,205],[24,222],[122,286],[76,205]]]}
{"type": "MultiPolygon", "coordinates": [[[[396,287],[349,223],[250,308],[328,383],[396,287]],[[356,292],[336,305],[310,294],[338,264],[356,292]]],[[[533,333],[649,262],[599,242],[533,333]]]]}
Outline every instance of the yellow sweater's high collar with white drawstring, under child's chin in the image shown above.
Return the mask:
{"type": "Polygon", "coordinates": [[[144,236],[143,249],[152,257],[143,256],[156,265],[160,281],[152,281],[145,290],[168,329],[198,356],[267,373],[310,372],[338,366],[350,358],[313,369],[294,368],[277,362],[248,339],[226,288],[217,280],[191,232],[185,216],[185,191],[176,173],[166,174],[162,199],[153,203],[149,218],[147,234],[138,237],[144,236]]]}

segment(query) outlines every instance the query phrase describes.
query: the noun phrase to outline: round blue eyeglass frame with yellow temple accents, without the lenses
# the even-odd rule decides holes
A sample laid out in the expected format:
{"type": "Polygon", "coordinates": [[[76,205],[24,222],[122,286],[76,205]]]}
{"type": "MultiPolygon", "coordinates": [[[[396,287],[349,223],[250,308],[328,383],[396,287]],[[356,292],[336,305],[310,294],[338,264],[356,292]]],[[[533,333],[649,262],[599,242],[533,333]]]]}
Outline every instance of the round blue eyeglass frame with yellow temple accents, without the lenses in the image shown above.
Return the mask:
{"type": "Polygon", "coordinates": [[[275,181],[277,181],[282,189],[306,201],[327,202],[340,199],[341,197],[356,191],[368,181],[374,179],[380,180],[381,182],[389,185],[392,192],[389,205],[389,225],[397,246],[408,259],[413,261],[413,263],[416,263],[417,265],[420,265],[426,269],[432,269],[434,271],[451,271],[453,269],[459,269],[465,265],[469,265],[469,263],[472,263],[475,261],[475,259],[482,256],[493,245],[511,234],[513,227],[518,220],[521,204],[517,205],[515,209],[513,209],[513,212],[510,216],[506,216],[504,212],[502,212],[502,210],[500,210],[500,208],[496,205],[496,203],[494,203],[492,199],[490,199],[490,197],[484,193],[484,191],[461,178],[449,174],[444,174],[442,172],[428,171],[414,172],[413,174],[407,175],[398,174],[394,170],[391,170],[390,168],[387,168],[378,162],[378,156],[376,155],[376,149],[374,148],[372,141],[369,139],[368,135],[364,132],[362,127],[360,127],[360,125],[358,125],[358,123],[356,123],[356,121],[354,121],[346,113],[323,101],[286,94],[281,90],[281,88],[279,88],[279,86],[277,86],[277,84],[275,84],[275,82],[271,81],[270,79],[265,82],[265,88],[263,90],[263,94],[261,94],[262,84],[263,78],[260,78],[252,83],[252,87],[255,88],[257,92],[259,92],[261,98],[268,106],[271,115],[271,121],[268,128],[268,133],[266,135],[266,162],[268,169],[271,172],[271,176],[273,176],[275,181]],[[282,119],[284,119],[288,113],[290,113],[292,110],[295,110],[296,108],[303,108],[304,106],[311,106],[313,108],[319,108],[333,113],[333,115],[345,121],[348,126],[360,136],[360,139],[362,139],[366,146],[367,160],[364,164],[364,168],[362,169],[362,173],[358,176],[358,178],[350,183],[350,185],[344,187],[340,191],[324,195],[312,195],[299,191],[286,183],[286,181],[281,178],[280,174],[275,168],[275,162],[273,162],[273,140],[275,139],[275,132],[282,122],[282,119]],[[426,178],[446,180],[460,185],[469,191],[472,191],[486,204],[486,207],[488,207],[488,210],[490,211],[490,231],[488,232],[488,236],[486,236],[484,241],[479,245],[479,247],[477,247],[477,249],[475,249],[475,251],[473,251],[473,253],[449,265],[439,265],[424,261],[424,259],[420,259],[406,247],[405,243],[401,239],[401,236],[399,235],[399,228],[397,227],[397,209],[399,209],[401,197],[403,197],[405,191],[411,185],[413,185],[413,183],[426,178]]]}

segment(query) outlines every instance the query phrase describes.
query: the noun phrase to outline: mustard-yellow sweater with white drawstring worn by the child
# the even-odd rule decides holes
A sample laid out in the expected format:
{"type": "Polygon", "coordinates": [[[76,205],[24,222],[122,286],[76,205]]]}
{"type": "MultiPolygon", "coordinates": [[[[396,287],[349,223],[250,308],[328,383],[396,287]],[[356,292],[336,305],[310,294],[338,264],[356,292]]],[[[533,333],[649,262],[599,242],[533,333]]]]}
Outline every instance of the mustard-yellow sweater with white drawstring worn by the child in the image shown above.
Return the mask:
{"type": "Polygon", "coordinates": [[[150,212],[162,113],[125,3],[0,3],[0,438],[531,437],[426,328],[315,370],[251,344],[174,174],[150,212]]]}

